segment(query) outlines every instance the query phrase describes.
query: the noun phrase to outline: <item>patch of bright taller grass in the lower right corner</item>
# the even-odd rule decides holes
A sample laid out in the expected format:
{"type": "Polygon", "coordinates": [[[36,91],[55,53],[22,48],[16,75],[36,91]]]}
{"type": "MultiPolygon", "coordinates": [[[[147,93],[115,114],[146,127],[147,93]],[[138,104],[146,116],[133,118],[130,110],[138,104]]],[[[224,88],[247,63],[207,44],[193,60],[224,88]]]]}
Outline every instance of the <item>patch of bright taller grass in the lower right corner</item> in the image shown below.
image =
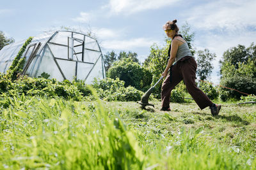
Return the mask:
{"type": "Polygon", "coordinates": [[[230,148],[211,145],[203,133],[202,128],[182,128],[172,141],[162,142],[163,148],[156,149],[156,169],[255,169],[255,159],[250,155],[244,157],[230,148]]]}

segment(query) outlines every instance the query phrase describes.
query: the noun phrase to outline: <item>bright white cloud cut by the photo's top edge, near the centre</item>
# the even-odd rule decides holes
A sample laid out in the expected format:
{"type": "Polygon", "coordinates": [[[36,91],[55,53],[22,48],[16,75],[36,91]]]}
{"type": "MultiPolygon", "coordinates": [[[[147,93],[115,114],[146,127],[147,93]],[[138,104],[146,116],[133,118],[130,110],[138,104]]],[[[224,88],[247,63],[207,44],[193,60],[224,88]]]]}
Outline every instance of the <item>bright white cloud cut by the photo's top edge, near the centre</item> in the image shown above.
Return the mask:
{"type": "Polygon", "coordinates": [[[179,0],[110,0],[107,5],[111,13],[129,15],[143,10],[154,10],[173,4],[179,0]]]}

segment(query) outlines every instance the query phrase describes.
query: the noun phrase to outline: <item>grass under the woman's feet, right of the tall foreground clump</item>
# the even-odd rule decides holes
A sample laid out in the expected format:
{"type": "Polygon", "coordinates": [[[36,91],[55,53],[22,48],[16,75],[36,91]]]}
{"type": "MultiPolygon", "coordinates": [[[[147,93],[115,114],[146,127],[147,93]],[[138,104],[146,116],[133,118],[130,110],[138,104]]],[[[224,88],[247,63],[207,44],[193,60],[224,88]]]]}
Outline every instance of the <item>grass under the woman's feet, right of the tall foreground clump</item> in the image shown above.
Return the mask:
{"type": "Polygon", "coordinates": [[[256,106],[222,103],[220,115],[195,103],[172,103],[172,111],[140,110],[136,103],[107,103],[138,136],[156,169],[255,169],[256,106]],[[186,150],[186,152],[184,152],[186,150]]]}

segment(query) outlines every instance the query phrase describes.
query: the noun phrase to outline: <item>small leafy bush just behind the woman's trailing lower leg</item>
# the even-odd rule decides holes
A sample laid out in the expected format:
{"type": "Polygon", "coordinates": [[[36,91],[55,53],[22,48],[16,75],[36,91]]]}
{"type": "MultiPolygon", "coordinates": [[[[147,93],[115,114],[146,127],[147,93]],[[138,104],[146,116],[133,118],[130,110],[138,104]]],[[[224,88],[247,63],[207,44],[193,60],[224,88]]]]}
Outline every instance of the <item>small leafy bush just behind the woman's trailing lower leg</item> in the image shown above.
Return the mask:
{"type": "Polygon", "coordinates": [[[209,97],[209,99],[218,99],[219,93],[216,87],[213,87],[210,83],[200,82],[200,89],[209,97]]]}

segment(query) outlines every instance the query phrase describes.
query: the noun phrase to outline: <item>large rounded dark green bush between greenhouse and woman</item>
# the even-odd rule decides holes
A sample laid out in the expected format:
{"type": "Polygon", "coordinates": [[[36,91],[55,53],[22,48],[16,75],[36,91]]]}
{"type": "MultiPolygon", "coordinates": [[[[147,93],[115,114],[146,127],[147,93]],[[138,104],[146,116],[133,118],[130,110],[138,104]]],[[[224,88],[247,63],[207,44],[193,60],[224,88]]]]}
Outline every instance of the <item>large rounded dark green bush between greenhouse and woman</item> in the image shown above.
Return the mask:
{"type": "Polygon", "coordinates": [[[125,82],[125,87],[131,85],[138,90],[146,91],[152,81],[152,73],[141,67],[138,62],[133,62],[131,58],[118,60],[113,63],[107,73],[109,78],[119,78],[125,82]]]}

